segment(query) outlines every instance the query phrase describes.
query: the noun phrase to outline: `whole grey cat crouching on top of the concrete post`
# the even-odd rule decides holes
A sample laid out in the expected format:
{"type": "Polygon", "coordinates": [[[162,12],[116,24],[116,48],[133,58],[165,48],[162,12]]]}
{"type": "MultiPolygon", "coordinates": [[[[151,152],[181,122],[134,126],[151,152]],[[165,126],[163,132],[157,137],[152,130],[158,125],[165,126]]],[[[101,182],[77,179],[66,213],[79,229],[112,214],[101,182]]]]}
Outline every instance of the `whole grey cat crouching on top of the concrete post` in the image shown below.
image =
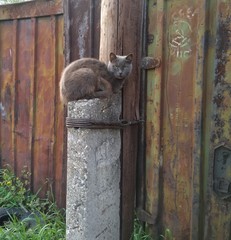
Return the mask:
{"type": "Polygon", "coordinates": [[[131,73],[133,55],[110,53],[109,57],[108,65],[94,58],[82,58],[68,65],[60,80],[62,102],[107,98],[117,93],[131,73]]]}

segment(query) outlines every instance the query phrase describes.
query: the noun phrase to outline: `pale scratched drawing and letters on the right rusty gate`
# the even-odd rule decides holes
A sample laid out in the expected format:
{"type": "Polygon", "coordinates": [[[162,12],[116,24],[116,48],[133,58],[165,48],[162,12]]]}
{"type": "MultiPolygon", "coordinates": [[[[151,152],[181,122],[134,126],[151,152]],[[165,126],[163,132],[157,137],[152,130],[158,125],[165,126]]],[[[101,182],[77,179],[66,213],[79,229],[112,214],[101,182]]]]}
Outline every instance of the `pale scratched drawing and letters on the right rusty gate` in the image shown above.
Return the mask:
{"type": "Polygon", "coordinates": [[[191,20],[198,11],[192,8],[180,9],[172,14],[173,23],[169,31],[170,54],[188,58],[192,52],[191,20]]]}

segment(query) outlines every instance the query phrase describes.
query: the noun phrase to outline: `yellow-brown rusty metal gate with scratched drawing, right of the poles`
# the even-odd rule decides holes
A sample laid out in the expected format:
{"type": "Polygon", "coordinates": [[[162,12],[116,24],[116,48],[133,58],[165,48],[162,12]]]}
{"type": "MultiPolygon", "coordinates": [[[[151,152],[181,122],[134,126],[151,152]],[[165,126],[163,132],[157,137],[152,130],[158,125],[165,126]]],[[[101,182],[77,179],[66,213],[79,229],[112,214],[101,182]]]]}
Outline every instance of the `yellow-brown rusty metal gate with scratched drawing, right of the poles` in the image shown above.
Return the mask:
{"type": "Polygon", "coordinates": [[[147,3],[143,219],[155,235],[231,239],[231,2],[147,3]]]}

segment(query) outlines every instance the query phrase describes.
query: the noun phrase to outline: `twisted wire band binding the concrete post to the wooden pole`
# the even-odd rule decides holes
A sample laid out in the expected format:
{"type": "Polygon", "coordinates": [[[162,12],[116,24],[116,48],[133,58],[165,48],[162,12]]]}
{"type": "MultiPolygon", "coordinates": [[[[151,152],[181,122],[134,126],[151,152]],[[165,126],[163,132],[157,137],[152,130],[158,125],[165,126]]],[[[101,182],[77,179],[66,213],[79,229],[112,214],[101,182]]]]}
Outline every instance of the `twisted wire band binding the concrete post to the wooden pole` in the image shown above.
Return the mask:
{"type": "Polygon", "coordinates": [[[123,129],[128,126],[140,124],[143,120],[120,120],[120,121],[98,121],[94,119],[66,118],[67,128],[90,128],[90,129],[123,129]]]}

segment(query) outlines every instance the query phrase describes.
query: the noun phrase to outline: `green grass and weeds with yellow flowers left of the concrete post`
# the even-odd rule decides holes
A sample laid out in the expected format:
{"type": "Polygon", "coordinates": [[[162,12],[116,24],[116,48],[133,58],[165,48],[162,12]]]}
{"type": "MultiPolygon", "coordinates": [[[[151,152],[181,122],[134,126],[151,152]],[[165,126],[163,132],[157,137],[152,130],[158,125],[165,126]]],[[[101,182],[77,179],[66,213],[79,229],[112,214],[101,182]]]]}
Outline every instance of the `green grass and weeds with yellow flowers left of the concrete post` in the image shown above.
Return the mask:
{"type": "Polygon", "coordinates": [[[39,214],[35,226],[28,228],[28,219],[19,221],[12,216],[11,221],[0,226],[1,240],[64,240],[65,218],[49,198],[39,199],[27,190],[28,174],[24,181],[9,170],[0,170],[0,207],[21,207],[39,214]]]}

